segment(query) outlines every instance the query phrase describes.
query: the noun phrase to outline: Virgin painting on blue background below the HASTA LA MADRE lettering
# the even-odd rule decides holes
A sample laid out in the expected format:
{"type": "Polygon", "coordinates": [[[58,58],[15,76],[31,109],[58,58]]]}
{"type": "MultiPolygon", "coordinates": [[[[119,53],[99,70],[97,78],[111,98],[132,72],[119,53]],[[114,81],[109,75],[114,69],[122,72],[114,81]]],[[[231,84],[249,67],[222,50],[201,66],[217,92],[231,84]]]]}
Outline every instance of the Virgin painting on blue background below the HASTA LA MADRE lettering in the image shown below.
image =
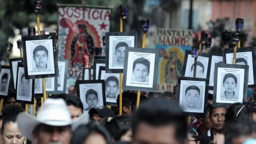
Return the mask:
{"type": "Polygon", "coordinates": [[[159,49],[157,92],[173,92],[178,76],[182,74],[184,55],[191,46],[156,45],[159,49]]]}

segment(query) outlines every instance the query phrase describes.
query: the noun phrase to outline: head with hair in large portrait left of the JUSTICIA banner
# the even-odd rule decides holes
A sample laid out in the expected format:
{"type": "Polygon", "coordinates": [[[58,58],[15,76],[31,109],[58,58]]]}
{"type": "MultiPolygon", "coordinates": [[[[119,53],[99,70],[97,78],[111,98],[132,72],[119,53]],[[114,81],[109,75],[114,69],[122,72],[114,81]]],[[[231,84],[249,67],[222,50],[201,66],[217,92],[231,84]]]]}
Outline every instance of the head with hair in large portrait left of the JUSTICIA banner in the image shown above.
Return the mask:
{"type": "Polygon", "coordinates": [[[38,70],[46,69],[48,58],[48,50],[45,46],[38,45],[33,50],[33,60],[35,61],[38,70]]]}

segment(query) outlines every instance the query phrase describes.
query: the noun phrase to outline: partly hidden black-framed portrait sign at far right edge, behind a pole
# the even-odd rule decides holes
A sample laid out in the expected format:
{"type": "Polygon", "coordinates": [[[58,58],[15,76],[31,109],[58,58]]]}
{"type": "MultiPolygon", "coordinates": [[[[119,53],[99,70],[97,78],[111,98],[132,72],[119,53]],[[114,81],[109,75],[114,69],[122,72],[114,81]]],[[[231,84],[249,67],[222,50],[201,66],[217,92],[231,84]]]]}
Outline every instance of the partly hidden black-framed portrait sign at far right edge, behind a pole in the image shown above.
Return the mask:
{"type": "MultiPolygon", "coordinates": [[[[233,64],[234,48],[223,49],[223,61],[233,64]]],[[[256,87],[256,47],[241,47],[236,50],[236,64],[249,66],[248,87],[256,87]],[[253,62],[254,61],[254,62],[253,62]]]]}

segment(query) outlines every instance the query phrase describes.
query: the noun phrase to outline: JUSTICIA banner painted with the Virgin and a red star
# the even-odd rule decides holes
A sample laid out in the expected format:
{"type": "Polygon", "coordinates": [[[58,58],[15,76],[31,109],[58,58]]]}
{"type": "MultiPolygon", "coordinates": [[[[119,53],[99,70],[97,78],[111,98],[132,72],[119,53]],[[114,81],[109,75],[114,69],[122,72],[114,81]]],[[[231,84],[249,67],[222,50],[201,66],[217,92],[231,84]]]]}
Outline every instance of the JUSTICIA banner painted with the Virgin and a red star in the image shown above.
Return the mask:
{"type": "Polygon", "coordinates": [[[82,56],[93,55],[95,47],[102,47],[110,20],[108,8],[59,7],[58,57],[68,59],[67,85],[74,85],[82,77],[82,56]]]}

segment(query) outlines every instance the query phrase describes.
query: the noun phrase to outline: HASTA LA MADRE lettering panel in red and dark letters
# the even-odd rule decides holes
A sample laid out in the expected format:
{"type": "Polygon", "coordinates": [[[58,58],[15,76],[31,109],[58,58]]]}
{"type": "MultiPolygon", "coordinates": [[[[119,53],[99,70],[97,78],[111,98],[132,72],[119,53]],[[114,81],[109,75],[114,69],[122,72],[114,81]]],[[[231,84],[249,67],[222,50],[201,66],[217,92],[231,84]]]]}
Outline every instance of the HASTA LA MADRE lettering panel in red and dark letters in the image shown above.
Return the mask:
{"type": "Polygon", "coordinates": [[[156,44],[161,45],[193,45],[192,29],[156,29],[156,44]]]}

